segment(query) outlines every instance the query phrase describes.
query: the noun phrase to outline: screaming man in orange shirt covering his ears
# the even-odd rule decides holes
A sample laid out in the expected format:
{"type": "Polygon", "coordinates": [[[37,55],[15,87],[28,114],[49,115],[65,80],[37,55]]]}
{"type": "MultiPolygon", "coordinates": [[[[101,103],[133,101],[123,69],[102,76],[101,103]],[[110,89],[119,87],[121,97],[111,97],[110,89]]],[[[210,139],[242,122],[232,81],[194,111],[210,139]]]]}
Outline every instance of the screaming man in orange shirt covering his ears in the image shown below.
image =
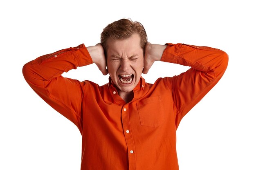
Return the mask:
{"type": "Polygon", "coordinates": [[[139,22],[122,19],[103,29],[101,44],[43,55],[25,64],[23,75],[79,128],[81,170],[178,170],[176,129],[219,81],[227,63],[228,55],[219,49],[150,44],[139,22]],[[141,73],[159,60],[191,68],[146,83],[141,73]],[[61,76],[92,63],[103,75],[109,73],[108,84],[61,76]]]}

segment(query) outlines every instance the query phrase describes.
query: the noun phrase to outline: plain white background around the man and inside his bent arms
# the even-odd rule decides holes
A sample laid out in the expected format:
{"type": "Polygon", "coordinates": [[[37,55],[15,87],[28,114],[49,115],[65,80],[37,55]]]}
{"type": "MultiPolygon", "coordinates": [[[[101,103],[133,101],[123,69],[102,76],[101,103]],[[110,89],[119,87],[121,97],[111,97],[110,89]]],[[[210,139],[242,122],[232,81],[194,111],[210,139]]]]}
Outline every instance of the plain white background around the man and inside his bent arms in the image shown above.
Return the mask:
{"type": "MultiPolygon", "coordinates": [[[[229,54],[220,82],[181,121],[180,170],[256,170],[256,12],[251,0],[9,0],[0,2],[0,169],[79,170],[81,135],[31,90],[22,66],[36,57],[100,41],[121,18],[141,22],[154,44],[211,46],[229,54]]],[[[147,82],[185,71],[156,62],[147,82]]],[[[95,64],[66,77],[103,85],[95,64]]],[[[99,155],[100,156],[100,155],[99,155]]]]}

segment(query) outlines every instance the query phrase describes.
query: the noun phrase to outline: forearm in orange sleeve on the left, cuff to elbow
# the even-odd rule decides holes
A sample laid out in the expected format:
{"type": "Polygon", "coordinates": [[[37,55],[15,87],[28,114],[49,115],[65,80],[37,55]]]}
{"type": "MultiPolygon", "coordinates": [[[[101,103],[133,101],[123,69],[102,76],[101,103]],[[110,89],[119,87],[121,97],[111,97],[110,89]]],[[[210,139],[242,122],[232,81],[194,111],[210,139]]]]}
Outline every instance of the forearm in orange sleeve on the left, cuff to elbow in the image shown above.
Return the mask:
{"type": "Polygon", "coordinates": [[[22,73],[29,84],[60,76],[77,66],[92,64],[88,50],[83,44],[43,55],[25,64],[22,73]]]}

